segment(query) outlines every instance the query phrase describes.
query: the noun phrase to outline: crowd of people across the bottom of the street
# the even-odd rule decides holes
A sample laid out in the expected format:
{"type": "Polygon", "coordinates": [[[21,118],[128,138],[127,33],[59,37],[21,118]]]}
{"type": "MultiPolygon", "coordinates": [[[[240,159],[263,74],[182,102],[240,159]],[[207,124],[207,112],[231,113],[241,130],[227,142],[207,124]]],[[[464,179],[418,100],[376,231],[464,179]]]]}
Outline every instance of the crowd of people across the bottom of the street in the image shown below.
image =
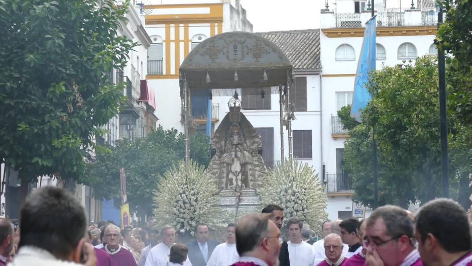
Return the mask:
{"type": "Polygon", "coordinates": [[[416,216],[387,205],[361,221],[327,220],[317,241],[293,217],[285,241],[284,209],[268,205],[228,224],[224,243],[210,239],[206,224],[195,227],[190,242],[176,243],[169,225],[87,227],[72,194],[44,187],[21,209],[19,228],[0,218],[0,266],[472,266],[469,224],[456,202],[436,199],[416,216]]]}

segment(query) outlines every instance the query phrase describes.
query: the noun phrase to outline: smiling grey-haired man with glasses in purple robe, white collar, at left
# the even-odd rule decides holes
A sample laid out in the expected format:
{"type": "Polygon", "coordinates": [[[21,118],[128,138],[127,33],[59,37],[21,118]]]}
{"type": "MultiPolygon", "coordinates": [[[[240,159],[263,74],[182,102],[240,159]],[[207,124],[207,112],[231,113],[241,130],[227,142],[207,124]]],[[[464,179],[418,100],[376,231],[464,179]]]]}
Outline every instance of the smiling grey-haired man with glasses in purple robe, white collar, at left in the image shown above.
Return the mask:
{"type": "Polygon", "coordinates": [[[111,256],[114,266],[138,266],[136,259],[126,247],[120,245],[120,227],[110,224],[105,228],[105,246],[102,248],[111,256]]]}

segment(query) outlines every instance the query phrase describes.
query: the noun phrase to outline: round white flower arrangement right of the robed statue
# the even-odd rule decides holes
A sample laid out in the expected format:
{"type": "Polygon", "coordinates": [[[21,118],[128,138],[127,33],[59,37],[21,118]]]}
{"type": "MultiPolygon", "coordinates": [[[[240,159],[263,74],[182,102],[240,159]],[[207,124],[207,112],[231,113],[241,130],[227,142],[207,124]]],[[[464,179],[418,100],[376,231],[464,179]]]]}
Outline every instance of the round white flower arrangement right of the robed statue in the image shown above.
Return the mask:
{"type": "Polygon", "coordinates": [[[277,204],[284,208],[286,218],[297,217],[319,231],[327,218],[326,194],[315,173],[307,163],[285,159],[269,170],[260,190],[265,205],[277,204]]]}

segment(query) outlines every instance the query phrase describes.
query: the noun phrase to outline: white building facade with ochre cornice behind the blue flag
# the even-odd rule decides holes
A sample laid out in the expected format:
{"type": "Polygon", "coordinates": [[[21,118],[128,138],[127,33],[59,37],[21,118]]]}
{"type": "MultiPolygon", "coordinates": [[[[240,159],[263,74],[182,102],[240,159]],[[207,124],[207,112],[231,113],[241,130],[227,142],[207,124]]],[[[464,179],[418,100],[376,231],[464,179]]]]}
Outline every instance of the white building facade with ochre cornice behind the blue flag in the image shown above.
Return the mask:
{"type": "MultiPolygon", "coordinates": [[[[434,4],[418,0],[414,4],[420,8],[414,5],[411,9],[411,1],[409,5],[395,2],[376,1],[377,69],[437,53],[433,44],[437,23],[434,4]]],[[[363,27],[371,18],[369,3],[329,0],[327,9],[321,10],[322,163],[331,220],[352,215],[352,180],[342,167],[344,141],[349,133],[342,128],[337,111],[352,103],[363,27]]]]}

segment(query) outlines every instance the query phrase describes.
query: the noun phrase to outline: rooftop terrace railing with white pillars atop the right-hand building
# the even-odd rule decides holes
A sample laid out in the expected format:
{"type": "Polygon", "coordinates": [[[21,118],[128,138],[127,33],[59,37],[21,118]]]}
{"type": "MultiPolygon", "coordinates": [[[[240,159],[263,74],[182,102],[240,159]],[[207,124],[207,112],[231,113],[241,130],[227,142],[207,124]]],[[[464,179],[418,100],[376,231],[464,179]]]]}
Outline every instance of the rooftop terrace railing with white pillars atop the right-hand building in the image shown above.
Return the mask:
{"type": "MultiPolygon", "coordinates": [[[[408,10],[405,12],[376,13],[377,27],[435,26],[436,11],[408,10]]],[[[370,12],[334,14],[321,13],[321,28],[364,28],[371,18],[370,12]]]]}

